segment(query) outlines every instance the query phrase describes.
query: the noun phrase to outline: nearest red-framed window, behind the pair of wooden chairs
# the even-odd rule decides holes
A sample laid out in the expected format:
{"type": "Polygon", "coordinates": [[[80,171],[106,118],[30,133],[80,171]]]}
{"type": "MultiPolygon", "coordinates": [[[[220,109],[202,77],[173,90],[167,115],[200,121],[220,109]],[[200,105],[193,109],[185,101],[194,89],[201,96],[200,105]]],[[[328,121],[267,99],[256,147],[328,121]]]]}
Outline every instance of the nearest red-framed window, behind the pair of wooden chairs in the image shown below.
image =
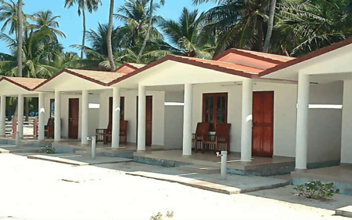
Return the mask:
{"type": "Polygon", "coordinates": [[[227,93],[203,94],[203,122],[215,131],[217,123],[227,123],[227,93]]]}

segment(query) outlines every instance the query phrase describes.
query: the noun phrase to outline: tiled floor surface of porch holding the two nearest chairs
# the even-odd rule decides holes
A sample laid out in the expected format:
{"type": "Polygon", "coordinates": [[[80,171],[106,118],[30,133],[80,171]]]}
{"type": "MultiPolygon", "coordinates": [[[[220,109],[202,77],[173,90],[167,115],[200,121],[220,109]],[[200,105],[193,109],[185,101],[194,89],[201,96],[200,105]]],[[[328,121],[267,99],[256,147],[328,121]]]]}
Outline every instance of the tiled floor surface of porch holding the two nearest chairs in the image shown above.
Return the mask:
{"type": "MultiPolygon", "coordinates": [[[[183,156],[182,150],[135,152],[133,153],[133,157],[177,161],[212,167],[220,167],[221,160],[220,157],[216,157],[213,152],[206,152],[205,154],[192,153],[191,156],[183,156]]],[[[242,162],[240,161],[240,153],[231,152],[231,154],[227,155],[227,162],[227,169],[240,171],[282,169],[283,167],[293,169],[295,158],[281,156],[274,156],[273,158],[253,157],[251,162],[242,162]]],[[[286,173],[289,173],[289,171],[286,173]]]]}

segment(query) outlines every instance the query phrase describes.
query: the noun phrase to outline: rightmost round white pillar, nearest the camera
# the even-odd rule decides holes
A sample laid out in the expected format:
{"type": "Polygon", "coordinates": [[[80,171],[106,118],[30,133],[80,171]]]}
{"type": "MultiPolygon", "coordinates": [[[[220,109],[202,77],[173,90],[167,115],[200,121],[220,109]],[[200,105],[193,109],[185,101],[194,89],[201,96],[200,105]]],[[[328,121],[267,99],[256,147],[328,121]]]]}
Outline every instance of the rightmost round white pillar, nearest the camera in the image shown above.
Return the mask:
{"type": "Polygon", "coordinates": [[[309,75],[298,75],[296,169],[307,169],[309,75]]]}

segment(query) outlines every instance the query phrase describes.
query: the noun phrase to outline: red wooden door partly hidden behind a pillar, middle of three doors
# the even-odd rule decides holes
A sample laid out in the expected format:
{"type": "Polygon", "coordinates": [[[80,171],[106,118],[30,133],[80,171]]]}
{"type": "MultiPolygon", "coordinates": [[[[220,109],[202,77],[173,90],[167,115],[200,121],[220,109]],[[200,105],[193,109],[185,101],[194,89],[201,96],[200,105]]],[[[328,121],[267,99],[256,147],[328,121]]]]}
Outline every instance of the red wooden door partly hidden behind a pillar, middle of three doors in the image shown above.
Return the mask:
{"type": "MultiPolygon", "coordinates": [[[[153,115],[153,96],[145,97],[145,145],[151,146],[151,136],[152,136],[152,115],[153,115]]],[[[138,96],[137,96],[137,129],[138,134],[138,96]]],[[[136,135],[136,143],[138,142],[138,137],[136,135]]]]}

